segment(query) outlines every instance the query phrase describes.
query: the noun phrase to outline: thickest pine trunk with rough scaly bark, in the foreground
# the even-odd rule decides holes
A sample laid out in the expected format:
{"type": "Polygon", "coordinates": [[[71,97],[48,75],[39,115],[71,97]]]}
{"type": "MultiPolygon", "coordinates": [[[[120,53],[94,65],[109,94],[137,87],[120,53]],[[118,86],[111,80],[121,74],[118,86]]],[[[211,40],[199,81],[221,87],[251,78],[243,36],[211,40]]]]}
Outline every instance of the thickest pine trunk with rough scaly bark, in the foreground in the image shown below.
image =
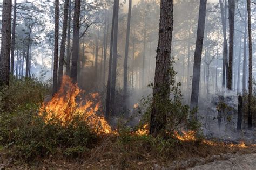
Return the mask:
{"type": "Polygon", "coordinates": [[[166,125],[168,110],[160,107],[169,101],[170,95],[173,0],[161,0],[160,8],[159,39],[150,121],[150,134],[153,136],[163,133],[166,125]]]}

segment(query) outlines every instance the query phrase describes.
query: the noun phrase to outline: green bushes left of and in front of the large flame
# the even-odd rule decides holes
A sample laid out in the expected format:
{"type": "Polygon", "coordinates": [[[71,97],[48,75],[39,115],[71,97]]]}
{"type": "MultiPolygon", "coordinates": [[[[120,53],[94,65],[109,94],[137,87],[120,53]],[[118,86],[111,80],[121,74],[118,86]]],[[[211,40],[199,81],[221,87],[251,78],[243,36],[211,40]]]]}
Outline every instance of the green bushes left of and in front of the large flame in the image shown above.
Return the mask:
{"type": "Polygon", "coordinates": [[[45,122],[39,108],[48,89],[35,80],[11,80],[1,92],[0,146],[25,161],[58,155],[82,156],[95,144],[97,135],[82,117],[75,117],[65,126],[52,117],[45,122]]]}

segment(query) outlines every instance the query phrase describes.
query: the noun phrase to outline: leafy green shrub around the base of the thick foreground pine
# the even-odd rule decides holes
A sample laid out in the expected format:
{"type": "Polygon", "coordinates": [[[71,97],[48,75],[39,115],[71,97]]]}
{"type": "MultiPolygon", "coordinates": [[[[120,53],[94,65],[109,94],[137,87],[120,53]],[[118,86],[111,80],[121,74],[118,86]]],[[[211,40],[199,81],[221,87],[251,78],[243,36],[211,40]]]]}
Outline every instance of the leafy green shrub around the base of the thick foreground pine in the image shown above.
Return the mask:
{"type": "MultiPolygon", "coordinates": [[[[182,103],[183,96],[181,94],[180,86],[181,83],[176,83],[175,76],[177,72],[173,69],[174,59],[171,60],[171,66],[169,70],[169,100],[163,101],[161,96],[154,96],[155,104],[157,103],[157,109],[167,113],[165,116],[165,133],[172,134],[173,131],[180,129],[189,129],[197,131],[200,128],[200,123],[196,120],[188,119],[188,116],[193,115],[197,112],[197,109],[190,111],[190,107],[182,103]]],[[[149,88],[154,88],[153,83],[149,84],[149,88]]],[[[165,93],[166,90],[162,90],[165,93]]],[[[143,97],[139,105],[139,113],[142,114],[143,118],[140,125],[150,124],[151,109],[152,109],[153,94],[147,97],[143,97]]]]}

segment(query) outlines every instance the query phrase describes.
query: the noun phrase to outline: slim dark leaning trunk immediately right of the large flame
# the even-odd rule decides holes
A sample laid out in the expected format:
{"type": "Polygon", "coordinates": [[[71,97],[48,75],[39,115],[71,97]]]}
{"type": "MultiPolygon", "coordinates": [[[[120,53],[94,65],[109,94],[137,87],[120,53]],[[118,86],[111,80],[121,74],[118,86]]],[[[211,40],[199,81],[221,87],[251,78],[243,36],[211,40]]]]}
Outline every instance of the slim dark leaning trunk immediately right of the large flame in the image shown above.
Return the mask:
{"type": "Polygon", "coordinates": [[[114,1],[113,6],[113,17],[112,17],[112,27],[111,27],[111,39],[110,39],[110,53],[109,53],[109,73],[107,77],[107,95],[106,95],[106,119],[109,119],[111,114],[110,110],[110,90],[111,90],[111,72],[112,72],[112,58],[113,58],[113,35],[114,35],[114,18],[116,17],[116,1],[114,1]]]}

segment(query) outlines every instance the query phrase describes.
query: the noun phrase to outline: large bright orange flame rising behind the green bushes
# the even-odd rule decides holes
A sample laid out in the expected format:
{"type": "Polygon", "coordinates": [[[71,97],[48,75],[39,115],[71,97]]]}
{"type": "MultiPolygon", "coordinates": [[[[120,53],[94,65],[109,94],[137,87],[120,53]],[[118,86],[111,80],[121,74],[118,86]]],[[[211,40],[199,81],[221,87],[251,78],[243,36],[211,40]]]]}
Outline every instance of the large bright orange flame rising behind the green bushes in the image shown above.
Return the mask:
{"type": "Polygon", "coordinates": [[[49,122],[55,117],[62,122],[63,126],[76,116],[82,116],[97,133],[111,133],[111,127],[105,118],[97,115],[100,107],[99,94],[87,95],[86,99],[82,100],[82,92],[77,84],[72,83],[70,77],[63,76],[60,90],[52,97],[51,101],[42,105],[40,115],[46,114],[45,122],[49,122]],[[80,97],[80,102],[77,102],[78,97],[80,97]]]}

